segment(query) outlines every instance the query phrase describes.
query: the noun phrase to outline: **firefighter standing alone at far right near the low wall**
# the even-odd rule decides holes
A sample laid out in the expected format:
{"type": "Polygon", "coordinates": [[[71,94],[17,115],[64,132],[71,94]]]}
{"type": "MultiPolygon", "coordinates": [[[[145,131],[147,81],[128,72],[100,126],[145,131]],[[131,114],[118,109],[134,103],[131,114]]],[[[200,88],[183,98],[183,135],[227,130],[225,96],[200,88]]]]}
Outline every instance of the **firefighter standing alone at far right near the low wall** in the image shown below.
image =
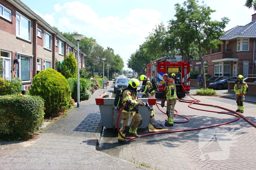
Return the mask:
{"type": "Polygon", "coordinates": [[[248,86],[246,82],[243,81],[244,76],[239,75],[237,77],[235,86],[234,86],[234,91],[236,93],[236,101],[237,101],[237,110],[236,112],[241,112],[244,113],[244,95],[248,91],[248,86]]]}

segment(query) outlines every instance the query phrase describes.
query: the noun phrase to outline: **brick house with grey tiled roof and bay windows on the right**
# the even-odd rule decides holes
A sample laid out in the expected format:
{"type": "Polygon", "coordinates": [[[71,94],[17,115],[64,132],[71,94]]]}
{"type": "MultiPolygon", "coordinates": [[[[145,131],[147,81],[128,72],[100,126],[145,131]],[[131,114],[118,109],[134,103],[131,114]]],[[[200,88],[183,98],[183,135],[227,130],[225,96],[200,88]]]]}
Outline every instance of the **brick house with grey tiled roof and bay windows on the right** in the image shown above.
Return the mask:
{"type": "MultiPolygon", "coordinates": [[[[245,26],[236,26],[220,37],[223,44],[204,54],[204,67],[211,76],[256,75],[256,13],[245,26]]],[[[191,70],[201,71],[201,60],[191,60],[191,70]]]]}

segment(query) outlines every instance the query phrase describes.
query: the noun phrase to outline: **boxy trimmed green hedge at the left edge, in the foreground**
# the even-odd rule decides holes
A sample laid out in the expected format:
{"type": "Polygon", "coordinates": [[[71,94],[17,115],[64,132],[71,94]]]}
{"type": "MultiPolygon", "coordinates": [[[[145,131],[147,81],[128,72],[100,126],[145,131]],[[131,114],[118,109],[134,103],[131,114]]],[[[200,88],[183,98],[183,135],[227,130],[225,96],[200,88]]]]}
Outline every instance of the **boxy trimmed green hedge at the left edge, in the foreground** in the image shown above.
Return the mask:
{"type": "Polygon", "coordinates": [[[0,121],[1,139],[28,138],[44,122],[44,101],[38,96],[0,96],[0,121]]]}

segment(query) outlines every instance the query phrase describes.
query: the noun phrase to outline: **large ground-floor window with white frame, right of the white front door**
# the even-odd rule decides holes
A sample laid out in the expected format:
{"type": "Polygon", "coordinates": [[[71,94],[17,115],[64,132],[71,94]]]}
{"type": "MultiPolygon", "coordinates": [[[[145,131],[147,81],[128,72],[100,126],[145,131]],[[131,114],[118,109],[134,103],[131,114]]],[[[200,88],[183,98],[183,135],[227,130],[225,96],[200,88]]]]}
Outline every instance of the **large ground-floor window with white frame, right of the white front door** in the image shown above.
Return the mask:
{"type": "Polygon", "coordinates": [[[18,59],[16,75],[22,82],[31,82],[31,57],[18,55],[18,59]]]}

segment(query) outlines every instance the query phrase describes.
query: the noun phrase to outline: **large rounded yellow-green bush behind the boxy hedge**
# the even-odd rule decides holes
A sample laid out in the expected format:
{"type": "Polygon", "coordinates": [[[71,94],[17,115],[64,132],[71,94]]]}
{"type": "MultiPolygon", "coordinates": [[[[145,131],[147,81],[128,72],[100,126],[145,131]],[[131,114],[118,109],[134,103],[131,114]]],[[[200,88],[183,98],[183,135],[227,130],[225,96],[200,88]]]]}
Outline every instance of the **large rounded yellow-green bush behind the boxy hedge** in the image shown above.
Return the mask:
{"type": "Polygon", "coordinates": [[[41,96],[45,100],[46,118],[55,117],[60,112],[65,114],[71,101],[68,81],[52,68],[40,71],[34,77],[30,95],[41,96]]]}

